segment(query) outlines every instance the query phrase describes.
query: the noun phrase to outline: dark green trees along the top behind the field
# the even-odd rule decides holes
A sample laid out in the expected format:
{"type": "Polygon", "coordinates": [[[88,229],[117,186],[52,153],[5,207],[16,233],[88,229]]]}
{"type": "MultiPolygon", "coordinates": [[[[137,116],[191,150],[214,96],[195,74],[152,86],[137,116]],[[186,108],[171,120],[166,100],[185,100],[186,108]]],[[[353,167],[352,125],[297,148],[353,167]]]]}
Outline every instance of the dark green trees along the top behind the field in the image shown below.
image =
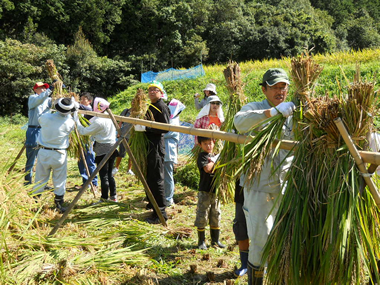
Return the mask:
{"type": "Polygon", "coordinates": [[[25,113],[49,58],[73,91],[107,97],[149,70],[378,47],[379,13],[375,0],[3,0],[0,114],[25,113]]]}

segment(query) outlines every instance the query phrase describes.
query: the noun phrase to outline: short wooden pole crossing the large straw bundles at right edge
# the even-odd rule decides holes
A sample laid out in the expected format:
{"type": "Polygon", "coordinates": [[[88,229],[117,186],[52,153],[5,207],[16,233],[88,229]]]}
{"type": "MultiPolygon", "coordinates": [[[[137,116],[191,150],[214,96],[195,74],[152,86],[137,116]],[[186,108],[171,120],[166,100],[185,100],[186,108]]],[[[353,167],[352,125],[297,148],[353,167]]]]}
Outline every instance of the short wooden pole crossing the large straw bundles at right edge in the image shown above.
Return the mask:
{"type": "Polygon", "coordinates": [[[340,134],[343,137],[344,142],[346,143],[348,150],[350,151],[352,157],[355,160],[356,165],[358,166],[360,172],[363,175],[364,181],[368,185],[369,191],[371,192],[373,199],[376,202],[376,205],[379,207],[380,206],[380,196],[379,192],[377,191],[377,188],[375,184],[373,183],[367,168],[365,166],[365,162],[363,161],[362,157],[360,156],[358,150],[356,149],[350,135],[347,132],[346,127],[344,126],[342,120],[340,118],[336,118],[334,120],[335,125],[338,127],[338,130],[340,134]]]}

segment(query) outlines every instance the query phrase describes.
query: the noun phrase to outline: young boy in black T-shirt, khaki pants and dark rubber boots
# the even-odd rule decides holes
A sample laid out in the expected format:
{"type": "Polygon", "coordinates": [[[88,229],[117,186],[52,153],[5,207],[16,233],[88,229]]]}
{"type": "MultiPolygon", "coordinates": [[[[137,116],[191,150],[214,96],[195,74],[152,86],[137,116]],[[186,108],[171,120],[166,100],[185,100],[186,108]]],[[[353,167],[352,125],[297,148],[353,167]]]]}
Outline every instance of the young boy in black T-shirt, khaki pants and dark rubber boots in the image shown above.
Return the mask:
{"type": "Polygon", "coordinates": [[[197,215],[194,226],[198,228],[198,248],[207,249],[205,243],[205,227],[210,224],[211,245],[224,248],[219,242],[220,234],[220,202],[216,189],[212,185],[214,164],[217,156],[213,154],[214,141],[210,138],[198,137],[202,152],[198,155],[197,165],[200,172],[197,215]]]}

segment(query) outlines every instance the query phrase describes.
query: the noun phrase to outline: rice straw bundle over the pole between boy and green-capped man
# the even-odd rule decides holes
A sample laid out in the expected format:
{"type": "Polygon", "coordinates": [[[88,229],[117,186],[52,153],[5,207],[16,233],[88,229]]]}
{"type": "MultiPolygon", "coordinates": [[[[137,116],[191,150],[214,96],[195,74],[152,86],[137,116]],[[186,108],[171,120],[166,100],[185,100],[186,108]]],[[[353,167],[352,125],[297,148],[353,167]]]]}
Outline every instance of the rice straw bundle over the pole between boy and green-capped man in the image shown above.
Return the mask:
{"type": "MultiPolygon", "coordinates": [[[[244,95],[241,70],[236,62],[230,62],[223,70],[227,89],[230,93],[225,121],[221,131],[237,133],[234,126],[234,116],[247,102],[244,95]]],[[[214,187],[222,203],[233,201],[235,194],[235,173],[237,170],[236,157],[239,156],[239,145],[225,141],[215,165],[214,187]]]]}

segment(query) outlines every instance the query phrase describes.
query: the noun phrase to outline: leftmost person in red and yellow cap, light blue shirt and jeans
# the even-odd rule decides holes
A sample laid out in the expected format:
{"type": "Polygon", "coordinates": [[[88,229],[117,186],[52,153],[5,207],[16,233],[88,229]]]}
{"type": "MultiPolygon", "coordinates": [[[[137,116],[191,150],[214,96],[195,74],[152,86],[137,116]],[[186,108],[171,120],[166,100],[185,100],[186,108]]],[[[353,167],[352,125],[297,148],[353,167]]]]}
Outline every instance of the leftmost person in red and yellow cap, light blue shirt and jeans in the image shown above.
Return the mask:
{"type": "Polygon", "coordinates": [[[26,164],[25,164],[25,185],[32,183],[33,167],[38,154],[37,137],[40,133],[38,118],[48,112],[51,108],[50,95],[53,85],[37,82],[34,87],[34,94],[28,99],[28,129],[26,131],[26,164]]]}

